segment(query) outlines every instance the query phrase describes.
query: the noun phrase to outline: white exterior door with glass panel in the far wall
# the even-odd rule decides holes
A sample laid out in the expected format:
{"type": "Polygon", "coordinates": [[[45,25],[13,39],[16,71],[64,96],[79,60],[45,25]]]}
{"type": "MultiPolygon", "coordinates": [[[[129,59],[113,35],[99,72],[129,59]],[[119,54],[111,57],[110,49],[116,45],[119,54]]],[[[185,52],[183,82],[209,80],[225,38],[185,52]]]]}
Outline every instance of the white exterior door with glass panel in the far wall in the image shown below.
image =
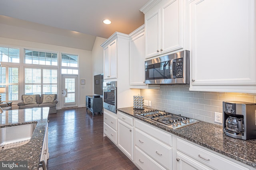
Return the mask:
{"type": "Polygon", "coordinates": [[[78,76],[62,75],[62,108],[78,107],[78,76]]]}

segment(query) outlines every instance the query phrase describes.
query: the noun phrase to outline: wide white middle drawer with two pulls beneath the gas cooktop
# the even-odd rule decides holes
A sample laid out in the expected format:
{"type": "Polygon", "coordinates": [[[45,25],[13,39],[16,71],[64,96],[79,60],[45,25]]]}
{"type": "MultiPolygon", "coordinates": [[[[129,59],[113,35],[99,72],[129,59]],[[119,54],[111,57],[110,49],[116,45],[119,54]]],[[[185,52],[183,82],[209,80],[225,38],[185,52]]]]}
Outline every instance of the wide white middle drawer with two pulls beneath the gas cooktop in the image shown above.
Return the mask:
{"type": "Polygon", "coordinates": [[[135,129],[135,145],[150,155],[159,164],[167,169],[171,169],[172,149],[168,145],[157,141],[138,129],[135,129]]]}

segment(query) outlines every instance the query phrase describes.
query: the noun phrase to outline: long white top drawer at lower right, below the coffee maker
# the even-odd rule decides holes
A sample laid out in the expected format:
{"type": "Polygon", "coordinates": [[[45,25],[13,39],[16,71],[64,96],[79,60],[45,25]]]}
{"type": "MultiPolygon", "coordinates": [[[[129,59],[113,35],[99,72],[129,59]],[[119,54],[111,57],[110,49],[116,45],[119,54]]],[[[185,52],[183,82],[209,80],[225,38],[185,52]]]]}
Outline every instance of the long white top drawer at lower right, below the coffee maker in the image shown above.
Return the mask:
{"type": "Polygon", "coordinates": [[[177,150],[180,150],[192,156],[194,159],[216,169],[249,170],[244,166],[232,162],[222,156],[218,156],[217,154],[211,153],[208,150],[197,147],[196,145],[188,143],[182,139],[177,139],[177,150]]]}

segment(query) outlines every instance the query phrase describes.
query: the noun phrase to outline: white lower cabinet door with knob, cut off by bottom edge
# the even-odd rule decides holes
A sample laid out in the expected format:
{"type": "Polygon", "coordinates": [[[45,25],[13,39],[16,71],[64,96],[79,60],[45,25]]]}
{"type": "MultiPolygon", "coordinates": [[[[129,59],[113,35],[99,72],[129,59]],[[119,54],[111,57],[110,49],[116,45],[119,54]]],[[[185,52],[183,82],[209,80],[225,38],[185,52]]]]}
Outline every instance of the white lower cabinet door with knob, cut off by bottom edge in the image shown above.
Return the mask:
{"type": "Polygon", "coordinates": [[[177,170],[213,170],[190,156],[177,152],[177,170]]]}

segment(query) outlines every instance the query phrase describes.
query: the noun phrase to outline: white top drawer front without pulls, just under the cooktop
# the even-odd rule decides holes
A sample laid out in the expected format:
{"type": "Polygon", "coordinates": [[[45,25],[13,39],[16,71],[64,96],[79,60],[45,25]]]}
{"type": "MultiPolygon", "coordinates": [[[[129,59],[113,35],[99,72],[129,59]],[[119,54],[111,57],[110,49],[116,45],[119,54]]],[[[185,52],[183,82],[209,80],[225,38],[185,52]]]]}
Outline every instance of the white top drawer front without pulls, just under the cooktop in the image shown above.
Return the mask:
{"type": "Polygon", "coordinates": [[[156,129],[156,127],[152,127],[138,120],[135,120],[135,127],[151,135],[152,137],[166,143],[167,145],[172,146],[172,135],[160,131],[156,129]]]}

